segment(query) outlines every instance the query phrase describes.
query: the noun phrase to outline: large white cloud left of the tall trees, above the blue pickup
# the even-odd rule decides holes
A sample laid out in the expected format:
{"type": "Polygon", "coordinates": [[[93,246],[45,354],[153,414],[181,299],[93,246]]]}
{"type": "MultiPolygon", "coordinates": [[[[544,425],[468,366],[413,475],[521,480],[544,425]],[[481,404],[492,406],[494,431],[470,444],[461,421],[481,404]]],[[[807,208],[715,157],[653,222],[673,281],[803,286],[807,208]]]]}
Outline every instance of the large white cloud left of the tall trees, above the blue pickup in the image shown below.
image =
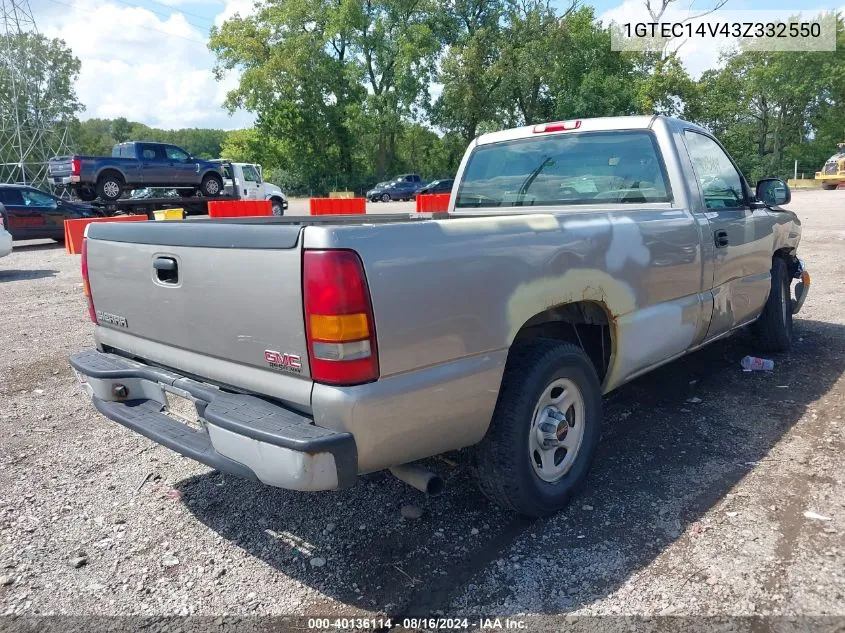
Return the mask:
{"type": "Polygon", "coordinates": [[[41,18],[42,32],[65,40],[82,62],[76,85],[82,116],[123,116],[168,129],[250,125],[248,113],[230,117],[221,107],[238,77],[215,81],[207,33],[181,13],[160,13],[75,0],[73,9],[41,18]]]}

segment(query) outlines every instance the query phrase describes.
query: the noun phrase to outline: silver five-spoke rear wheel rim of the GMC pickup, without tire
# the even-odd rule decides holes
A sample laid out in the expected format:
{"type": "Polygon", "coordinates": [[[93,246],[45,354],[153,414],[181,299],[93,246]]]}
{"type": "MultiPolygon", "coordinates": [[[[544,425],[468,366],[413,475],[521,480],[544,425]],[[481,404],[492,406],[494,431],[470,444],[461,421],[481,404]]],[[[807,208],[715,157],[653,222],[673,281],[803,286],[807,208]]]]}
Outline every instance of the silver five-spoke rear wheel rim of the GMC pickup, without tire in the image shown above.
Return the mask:
{"type": "Polygon", "coordinates": [[[584,438],[584,397],[568,378],[557,378],[534,409],[528,450],[534,472],[555,482],[572,467],[584,438]]]}

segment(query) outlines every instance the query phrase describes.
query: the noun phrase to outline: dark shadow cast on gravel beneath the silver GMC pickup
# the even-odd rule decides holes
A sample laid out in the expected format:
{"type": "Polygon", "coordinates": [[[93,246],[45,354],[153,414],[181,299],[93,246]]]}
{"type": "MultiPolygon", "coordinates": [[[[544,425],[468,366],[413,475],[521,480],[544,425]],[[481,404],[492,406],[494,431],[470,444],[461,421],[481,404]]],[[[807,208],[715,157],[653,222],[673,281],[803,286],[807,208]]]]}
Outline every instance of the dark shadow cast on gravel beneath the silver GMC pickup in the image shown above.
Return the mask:
{"type": "Polygon", "coordinates": [[[772,356],[771,373],[742,372],[739,360],[752,348],[739,335],[612,394],[585,492],[549,519],[526,520],[487,503],[472,481],[468,452],[428,460],[447,480],[446,493],[432,500],[386,475],[331,493],[278,490],[217,473],[179,487],[209,528],[344,603],[346,614],[451,615],[452,603],[469,613],[478,604],[504,605],[511,593],[505,570],[517,564],[535,567],[517,575],[536,585],[532,611],[566,612],[613,592],[649,564],[837,381],[845,369],[845,326],[796,320],[795,337],[790,354],[772,356]],[[401,518],[409,503],[423,507],[422,518],[401,518]],[[312,557],[325,565],[312,566],[312,557]],[[543,570],[549,561],[555,574],[543,570]],[[500,565],[497,588],[479,586],[481,572],[496,576],[500,565]]]}

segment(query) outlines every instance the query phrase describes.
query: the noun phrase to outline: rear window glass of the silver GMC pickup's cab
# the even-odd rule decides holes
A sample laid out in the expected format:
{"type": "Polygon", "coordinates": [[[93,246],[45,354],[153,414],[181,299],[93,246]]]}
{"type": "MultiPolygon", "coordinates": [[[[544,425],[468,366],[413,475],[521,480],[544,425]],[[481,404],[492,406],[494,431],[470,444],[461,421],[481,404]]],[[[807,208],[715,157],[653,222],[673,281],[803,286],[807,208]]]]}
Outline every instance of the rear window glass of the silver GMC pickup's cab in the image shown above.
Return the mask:
{"type": "Polygon", "coordinates": [[[543,136],[477,147],[455,206],[668,202],[666,182],[649,132],[543,136]]]}

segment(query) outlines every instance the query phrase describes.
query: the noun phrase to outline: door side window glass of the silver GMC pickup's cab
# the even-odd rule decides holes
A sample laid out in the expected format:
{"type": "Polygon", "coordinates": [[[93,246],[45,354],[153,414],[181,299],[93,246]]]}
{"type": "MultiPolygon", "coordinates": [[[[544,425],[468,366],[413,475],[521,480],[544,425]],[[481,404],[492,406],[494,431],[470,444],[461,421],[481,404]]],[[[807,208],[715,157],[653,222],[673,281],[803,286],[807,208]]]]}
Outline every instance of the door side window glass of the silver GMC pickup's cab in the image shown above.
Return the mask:
{"type": "Polygon", "coordinates": [[[730,209],[745,204],[742,178],[731,159],[709,136],[684,131],[695,177],[704,194],[708,209],[730,209]]]}

